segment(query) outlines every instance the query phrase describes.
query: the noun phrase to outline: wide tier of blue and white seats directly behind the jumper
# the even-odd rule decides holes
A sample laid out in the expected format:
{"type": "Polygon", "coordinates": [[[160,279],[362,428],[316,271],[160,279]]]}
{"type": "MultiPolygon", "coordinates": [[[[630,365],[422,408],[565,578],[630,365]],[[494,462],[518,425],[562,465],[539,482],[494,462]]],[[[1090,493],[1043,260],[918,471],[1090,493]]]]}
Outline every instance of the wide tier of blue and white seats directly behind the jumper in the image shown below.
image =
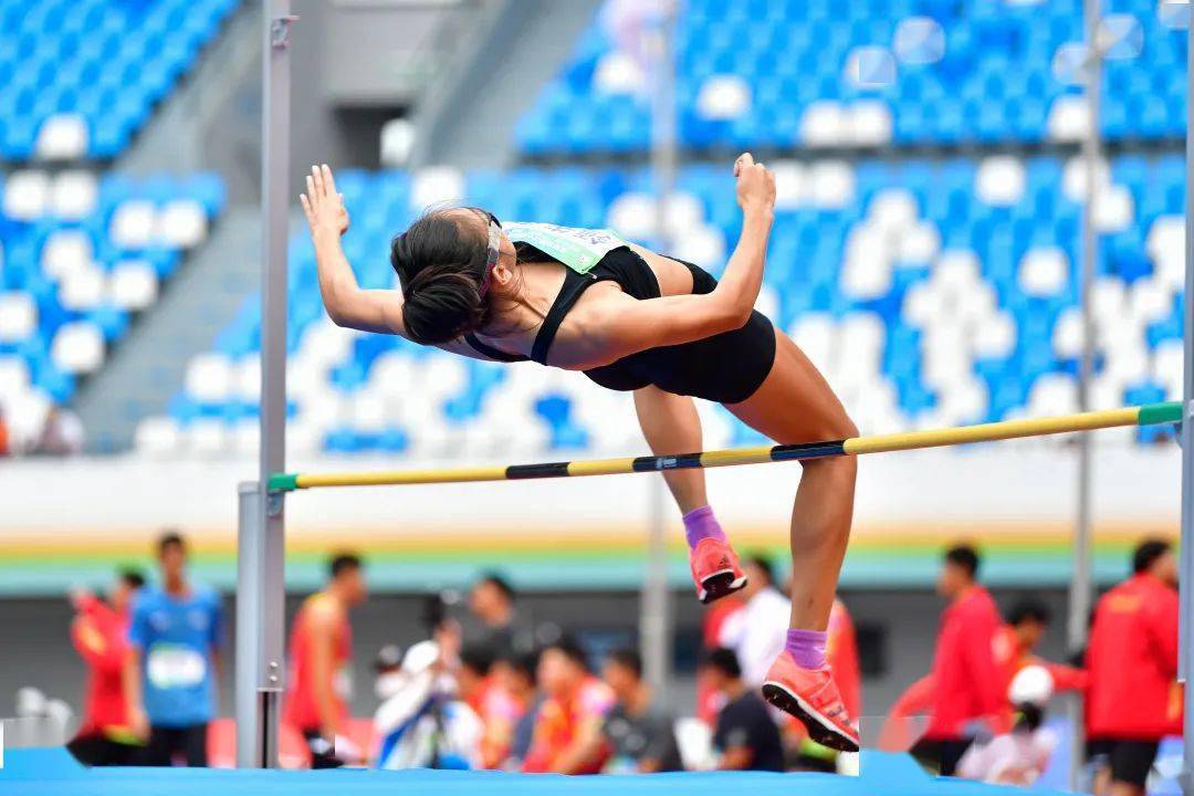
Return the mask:
{"type": "MultiPolygon", "coordinates": [[[[981,161],[780,161],[778,206],[761,308],[827,372],[866,432],[1075,411],[1082,328],[1076,246],[1084,173],[1055,158],[981,161]]],[[[1180,156],[1125,156],[1096,185],[1096,407],[1180,394],[1183,267],[1180,156]]],[[[610,226],[657,237],[645,171],[431,168],[345,172],[344,240],[363,285],[395,284],[388,241],[420,208],[467,202],[499,218],[610,226]]],[[[682,171],[671,251],[714,273],[738,234],[725,168],[682,171]]],[[[333,326],[313,251],[290,246],[288,434],[296,451],[504,451],[635,445],[626,395],[531,364],[468,360],[333,326]],[[417,388],[416,388],[417,385],[417,388]]],[[[143,451],[251,450],[257,297],[189,369],[143,451]]],[[[757,439],[702,407],[709,446],[757,439]]]]}

